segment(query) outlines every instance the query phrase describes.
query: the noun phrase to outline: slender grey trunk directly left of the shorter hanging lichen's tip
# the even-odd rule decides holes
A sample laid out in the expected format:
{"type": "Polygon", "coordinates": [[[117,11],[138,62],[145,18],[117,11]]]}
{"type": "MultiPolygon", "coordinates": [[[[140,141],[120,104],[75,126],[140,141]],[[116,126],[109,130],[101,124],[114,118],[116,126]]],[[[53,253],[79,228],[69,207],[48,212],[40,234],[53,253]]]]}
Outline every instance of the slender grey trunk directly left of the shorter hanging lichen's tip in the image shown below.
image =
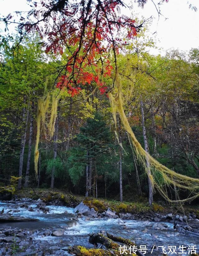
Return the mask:
{"type": "Polygon", "coordinates": [[[27,187],[28,183],[29,183],[30,158],[31,158],[32,135],[33,135],[33,111],[34,111],[34,101],[32,102],[32,114],[30,117],[30,136],[29,136],[29,145],[28,145],[28,160],[27,160],[27,166],[26,166],[24,187],[27,187]]]}

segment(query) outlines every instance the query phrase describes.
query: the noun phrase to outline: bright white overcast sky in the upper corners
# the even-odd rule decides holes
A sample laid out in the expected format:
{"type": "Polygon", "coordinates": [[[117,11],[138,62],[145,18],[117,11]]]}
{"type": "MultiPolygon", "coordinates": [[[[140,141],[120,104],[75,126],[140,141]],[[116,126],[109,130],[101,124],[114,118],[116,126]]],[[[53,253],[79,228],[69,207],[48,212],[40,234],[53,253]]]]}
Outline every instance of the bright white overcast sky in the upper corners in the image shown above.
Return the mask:
{"type": "MultiPolygon", "coordinates": [[[[125,0],[124,0],[125,2],[125,0]]],[[[129,1],[126,0],[127,3],[129,1]]],[[[157,31],[153,37],[156,37],[156,46],[162,47],[162,53],[169,48],[188,51],[192,47],[199,47],[199,0],[189,0],[190,3],[198,8],[195,12],[189,9],[187,0],[169,0],[168,3],[164,3],[161,7],[161,12],[164,17],[160,17],[158,21],[158,14],[155,10],[153,3],[148,0],[144,9],[136,7],[133,2],[135,13],[139,13],[139,16],[146,18],[153,15],[153,23],[150,27],[150,35],[157,31]]],[[[154,2],[160,2],[160,0],[154,0],[154,2]]],[[[7,15],[9,12],[14,11],[28,11],[29,7],[26,4],[26,0],[0,0],[0,15],[7,15]]],[[[131,11],[128,9],[122,10],[126,15],[130,15],[131,11]]],[[[0,24],[0,28],[4,30],[4,26],[0,24]]],[[[10,27],[10,32],[14,31],[14,26],[10,27]]],[[[151,53],[158,53],[158,50],[151,50],[151,53]]]]}

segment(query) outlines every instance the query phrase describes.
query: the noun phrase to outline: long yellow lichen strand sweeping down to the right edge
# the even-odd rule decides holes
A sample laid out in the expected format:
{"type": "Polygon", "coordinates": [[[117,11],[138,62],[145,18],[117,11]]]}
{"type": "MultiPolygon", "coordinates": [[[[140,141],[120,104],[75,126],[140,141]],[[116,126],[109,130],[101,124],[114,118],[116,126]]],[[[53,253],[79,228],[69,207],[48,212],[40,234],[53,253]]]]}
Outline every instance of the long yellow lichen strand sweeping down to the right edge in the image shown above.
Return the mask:
{"type": "MultiPolygon", "coordinates": [[[[128,98],[130,97],[130,93],[132,92],[132,85],[130,85],[130,89],[128,90],[128,98]]],[[[120,82],[119,74],[116,72],[114,88],[111,92],[108,93],[110,104],[112,106],[113,118],[116,123],[116,114],[118,113],[121,121],[123,123],[124,128],[129,134],[132,145],[137,156],[139,162],[143,165],[147,175],[149,174],[152,186],[159,191],[159,193],[170,202],[183,202],[187,200],[193,200],[199,196],[199,179],[191,178],[188,176],[184,176],[175,171],[170,170],[164,165],[160,164],[155,158],[150,156],[141,146],[141,144],[137,141],[130,124],[128,123],[128,119],[126,114],[124,113],[124,95],[123,89],[120,82]],[[149,162],[150,167],[146,166],[146,159],[149,162]],[[148,168],[150,168],[150,173],[148,172],[148,168]],[[162,177],[164,182],[160,184],[158,180],[162,177]],[[190,191],[190,196],[183,200],[171,200],[167,194],[167,188],[172,188],[172,186],[180,187],[182,189],[186,189],[190,191]]],[[[127,99],[125,100],[127,102],[127,99]]]]}

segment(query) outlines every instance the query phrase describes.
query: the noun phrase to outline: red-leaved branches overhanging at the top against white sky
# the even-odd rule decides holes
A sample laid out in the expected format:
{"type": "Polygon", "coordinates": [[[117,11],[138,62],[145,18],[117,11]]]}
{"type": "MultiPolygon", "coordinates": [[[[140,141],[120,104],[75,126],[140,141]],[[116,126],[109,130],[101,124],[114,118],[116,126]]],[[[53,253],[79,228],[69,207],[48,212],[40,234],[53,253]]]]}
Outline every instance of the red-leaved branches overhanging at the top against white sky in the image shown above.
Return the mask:
{"type": "MultiPolygon", "coordinates": [[[[137,0],[142,5],[146,1],[137,0]]],[[[58,88],[66,86],[74,96],[79,93],[78,84],[95,82],[100,93],[104,94],[107,87],[98,81],[94,71],[85,70],[87,66],[95,70],[100,61],[105,67],[103,75],[110,76],[113,67],[107,52],[113,50],[116,64],[116,54],[123,44],[120,31],[126,29],[129,39],[136,36],[140,26],[135,25],[135,20],[120,14],[122,6],[126,5],[121,0],[40,0],[34,2],[28,13],[28,22],[22,21],[19,30],[21,33],[24,28],[26,32],[38,31],[42,38],[47,39],[46,52],[62,55],[67,49],[66,75],[59,78],[58,88]]]]}

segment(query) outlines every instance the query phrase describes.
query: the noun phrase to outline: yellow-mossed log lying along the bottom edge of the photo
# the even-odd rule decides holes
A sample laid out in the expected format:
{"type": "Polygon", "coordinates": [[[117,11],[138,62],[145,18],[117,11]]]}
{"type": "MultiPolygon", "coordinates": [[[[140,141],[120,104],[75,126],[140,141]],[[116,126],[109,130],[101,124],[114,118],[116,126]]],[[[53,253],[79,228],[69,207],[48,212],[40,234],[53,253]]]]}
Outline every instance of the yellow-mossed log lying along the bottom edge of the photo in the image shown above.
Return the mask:
{"type": "MultiPolygon", "coordinates": [[[[73,246],[69,247],[68,249],[69,253],[73,253],[76,256],[113,256],[113,255],[121,255],[118,244],[117,249],[112,250],[103,250],[103,249],[87,249],[83,246],[73,246]]],[[[130,255],[125,254],[125,255],[130,255]]],[[[132,256],[136,256],[136,254],[131,254],[132,256]]]]}

